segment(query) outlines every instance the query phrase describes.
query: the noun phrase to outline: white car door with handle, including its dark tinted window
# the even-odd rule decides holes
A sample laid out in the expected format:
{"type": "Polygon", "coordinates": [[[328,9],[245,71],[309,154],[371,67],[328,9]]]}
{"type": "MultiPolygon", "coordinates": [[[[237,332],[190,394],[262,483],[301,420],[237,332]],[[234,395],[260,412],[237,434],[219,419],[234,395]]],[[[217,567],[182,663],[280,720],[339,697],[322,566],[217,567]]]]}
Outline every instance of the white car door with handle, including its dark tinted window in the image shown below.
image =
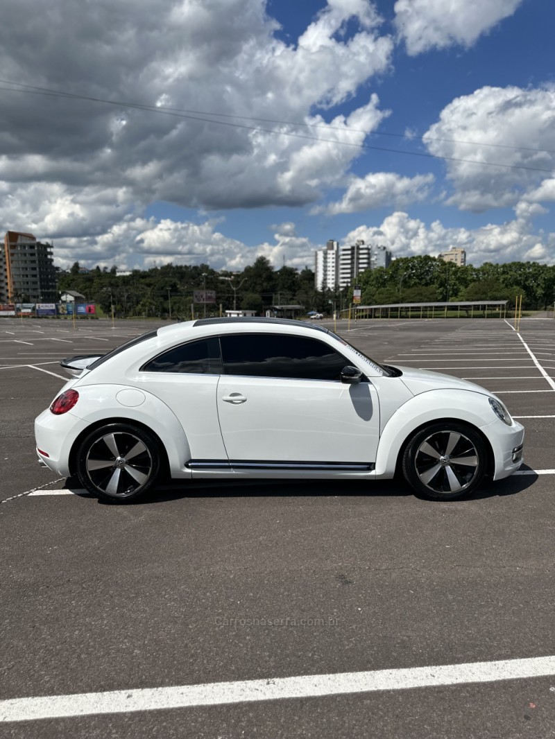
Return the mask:
{"type": "Polygon", "coordinates": [[[368,381],[340,381],[349,361],[334,347],[286,334],[246,333],[220,341],[218,415],[232,466],[374,463],[377,392],[368,381]]]}

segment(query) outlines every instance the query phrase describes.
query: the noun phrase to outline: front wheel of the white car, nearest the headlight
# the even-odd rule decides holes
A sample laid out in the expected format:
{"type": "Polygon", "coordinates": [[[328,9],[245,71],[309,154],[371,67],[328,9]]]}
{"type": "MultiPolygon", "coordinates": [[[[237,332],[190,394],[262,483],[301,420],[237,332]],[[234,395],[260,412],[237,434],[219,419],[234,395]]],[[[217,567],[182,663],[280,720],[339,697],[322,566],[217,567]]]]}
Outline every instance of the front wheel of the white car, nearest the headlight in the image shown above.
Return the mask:
{"type": "Polygon", "coordinates": [[[462,423],[433,423],[410,440],[403,475],[417,493],[432,500],[457,500],[482,482],[488,462],[480,434],[462,423]]]}

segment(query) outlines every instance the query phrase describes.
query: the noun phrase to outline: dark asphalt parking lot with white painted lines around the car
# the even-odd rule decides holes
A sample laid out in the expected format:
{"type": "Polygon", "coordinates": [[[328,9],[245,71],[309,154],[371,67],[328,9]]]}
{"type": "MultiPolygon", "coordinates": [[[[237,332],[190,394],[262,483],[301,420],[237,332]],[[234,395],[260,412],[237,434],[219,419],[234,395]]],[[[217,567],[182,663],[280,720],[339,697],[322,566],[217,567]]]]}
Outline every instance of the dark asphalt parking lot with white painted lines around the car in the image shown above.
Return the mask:
{"type": "Polygon", "coordinates": [[[524,423],[521,471],[470,500],[252,482],[102,505],[38,466],[33,419],[61,358],[154,326],[0,323],[0,737],[555,736],[555,321],[337,326],[524,423]]]}

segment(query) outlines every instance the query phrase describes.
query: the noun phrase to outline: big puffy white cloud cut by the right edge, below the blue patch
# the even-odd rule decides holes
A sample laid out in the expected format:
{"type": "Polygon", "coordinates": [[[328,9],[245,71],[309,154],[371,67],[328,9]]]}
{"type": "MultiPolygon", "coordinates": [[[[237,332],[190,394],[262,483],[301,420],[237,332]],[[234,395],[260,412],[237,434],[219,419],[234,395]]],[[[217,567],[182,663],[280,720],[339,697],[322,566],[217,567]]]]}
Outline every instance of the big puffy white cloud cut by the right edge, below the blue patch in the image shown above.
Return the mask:
{"type": "Polygon", "coordinates": [[[477,89],[449,103],[423,139],[431,154],[446,157],[449,204],[485,211],[553,200],[554,86],[477,89]]]}

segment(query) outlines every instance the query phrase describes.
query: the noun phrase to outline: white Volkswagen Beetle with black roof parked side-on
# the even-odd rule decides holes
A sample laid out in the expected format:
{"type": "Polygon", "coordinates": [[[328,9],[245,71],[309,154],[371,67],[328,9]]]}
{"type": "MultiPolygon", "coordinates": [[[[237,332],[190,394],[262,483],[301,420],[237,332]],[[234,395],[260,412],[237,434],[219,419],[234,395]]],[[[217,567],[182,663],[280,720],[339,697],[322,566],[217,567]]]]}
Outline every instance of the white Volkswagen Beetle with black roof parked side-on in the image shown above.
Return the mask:
{"type": "Polygon", "coordinates": [[[61,364],[73,377],[36,418],[38,459],[105,501],[164,479],[396,474],[454,500],[522,463],[524,429],[488,390],[305,321],[186,321],[61,364]]]}

